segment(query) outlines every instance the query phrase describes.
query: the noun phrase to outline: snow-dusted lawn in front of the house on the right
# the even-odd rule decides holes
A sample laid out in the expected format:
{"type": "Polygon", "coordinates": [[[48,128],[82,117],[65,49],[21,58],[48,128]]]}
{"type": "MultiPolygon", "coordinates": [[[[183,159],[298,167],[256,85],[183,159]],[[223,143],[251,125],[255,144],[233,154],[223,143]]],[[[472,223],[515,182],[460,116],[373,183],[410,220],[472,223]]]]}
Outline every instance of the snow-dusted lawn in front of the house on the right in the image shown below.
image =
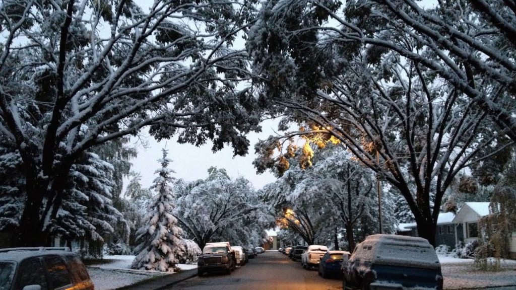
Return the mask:
{"type": "Polygon", "coordinates": [[[457,259],[438,255],[444,276],[444,289],[474,289],[489,286],[514,286],[516,288],[516,261],[501,262],[498,272],[480,271],[473,259],[457,259]]]}

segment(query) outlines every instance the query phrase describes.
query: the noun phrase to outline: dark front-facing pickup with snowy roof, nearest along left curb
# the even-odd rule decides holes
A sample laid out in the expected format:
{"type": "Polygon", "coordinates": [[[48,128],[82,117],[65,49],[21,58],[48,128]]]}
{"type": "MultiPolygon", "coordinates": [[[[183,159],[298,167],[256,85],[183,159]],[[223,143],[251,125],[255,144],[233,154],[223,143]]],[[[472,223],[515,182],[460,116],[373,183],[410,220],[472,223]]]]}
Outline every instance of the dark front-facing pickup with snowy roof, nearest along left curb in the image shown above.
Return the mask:
{"type": "Polygon", "coordinates": [[[236,255],[229,242],[207,243],[197,260],[197,275],[215,271],[230,274],[235,267],[236,255]]]}

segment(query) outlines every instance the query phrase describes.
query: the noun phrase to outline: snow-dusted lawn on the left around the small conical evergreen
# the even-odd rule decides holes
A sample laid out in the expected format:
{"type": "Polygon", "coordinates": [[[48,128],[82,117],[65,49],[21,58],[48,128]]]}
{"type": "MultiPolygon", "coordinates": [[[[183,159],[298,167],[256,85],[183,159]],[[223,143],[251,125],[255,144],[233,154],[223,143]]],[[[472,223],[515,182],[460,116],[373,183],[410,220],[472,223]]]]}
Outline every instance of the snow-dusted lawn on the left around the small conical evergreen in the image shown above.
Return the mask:
{"type": "MultiPolygon", "coordinates": [[[[134,260],[132,255],[104,256],[110,263],[88,266],[88,273],[95,284],[95,290],[110,290],[134,284],[155,276],[173,275],[156,271],[133,270],[129,267],[134,260]]],[[[178,265],[181,269],[197,268],[197,265],[178,265]]]]}

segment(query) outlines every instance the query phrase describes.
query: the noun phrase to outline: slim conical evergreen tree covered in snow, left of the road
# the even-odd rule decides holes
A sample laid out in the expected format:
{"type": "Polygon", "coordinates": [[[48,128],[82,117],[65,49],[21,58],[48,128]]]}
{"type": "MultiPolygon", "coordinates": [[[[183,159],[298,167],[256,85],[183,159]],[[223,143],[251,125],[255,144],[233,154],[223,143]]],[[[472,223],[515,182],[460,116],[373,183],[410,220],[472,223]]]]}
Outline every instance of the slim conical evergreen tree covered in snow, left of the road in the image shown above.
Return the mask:
{"type": "Polygon", "coordinates": [[[173,203],[172,181],[168,168],[170,159],[163,150],[163,158],[158,160],[162,168],[157,170],[159,176],[154,180],[151,189],[156,195],[144,218],[143,226],[136,233],[140,244],[136,247],[137,256],[131,265],[133,269],[173,272],[176,264],[184,255],[182,243],[183,230],[178,227],[178,219],[172,215],[173,203]]]}

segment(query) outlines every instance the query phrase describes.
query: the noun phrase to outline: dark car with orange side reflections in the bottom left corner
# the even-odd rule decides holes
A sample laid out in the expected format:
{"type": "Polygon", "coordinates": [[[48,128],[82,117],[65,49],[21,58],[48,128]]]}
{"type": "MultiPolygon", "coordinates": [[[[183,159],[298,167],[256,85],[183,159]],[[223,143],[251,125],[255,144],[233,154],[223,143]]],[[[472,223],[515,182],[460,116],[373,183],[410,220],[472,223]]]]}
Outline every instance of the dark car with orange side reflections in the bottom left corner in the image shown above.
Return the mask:
{"type": "Polygon", "coordinates": [[[38,247],[0,250],[0,289],[93,290],[79,256],[69,248],[38,247]]]}

